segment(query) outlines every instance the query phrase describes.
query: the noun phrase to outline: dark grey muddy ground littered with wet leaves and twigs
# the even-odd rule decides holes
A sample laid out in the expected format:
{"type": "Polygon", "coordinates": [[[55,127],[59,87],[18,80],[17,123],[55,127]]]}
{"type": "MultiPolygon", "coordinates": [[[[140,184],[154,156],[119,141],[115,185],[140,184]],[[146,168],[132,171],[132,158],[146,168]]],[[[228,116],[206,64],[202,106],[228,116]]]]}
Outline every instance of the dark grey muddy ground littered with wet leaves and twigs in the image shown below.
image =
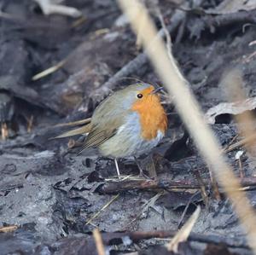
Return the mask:
{"type": "MultiPolygon", "coordinates": [[[[241,70],[246,96],[255,96],[253,1],[146,3],[159,30],[160,7],[173,54],[204,113],[236,98],[235,90],[225,93],[220,83],[230,67],[241,70]]],[[[221,189],[220,199],[214,195],[207,165],[166,97],[166,137],[152,152],[154,165],[148,155],[141,159],[147,174],[155,166],[150,185],[135,178],[138,168],[131,159],[120,162],[121,173],[130,178],[119,183],[113,160],[96,152],[67,154],[68,139],[49,140],[67,130],[55,125],[89,118],[111,90],[137,79],[161,84],[115,1],[62,4],[83,17],[47,16],[32,0],[0,1],[0,230],[11,228],[0,233],[0,254],[96,254],[95,228],[104,233],[110,254],[167,254],[159,237],[173,236],[197,205],[200,217],[180,254],[252,254],[233,207],[221,189]],[[55,72],[35,78],[60,61],[55,72]],[[174,188],[175,181],[184,187],[174,188]],[[207,196],[195,184],[200,181],[207,196]]],[[[254,113],[254,106],[241,113],[245,110],[254,113]]],[[[234,114],[222,107],[212,123],[224,148],[242,139],[234,114]]],[[[226,154],[236,175],[244,173],[241,183],[252,181],[253,154],[243,147],[226,154]]],[[[255,206],[255,182],[244,185],[255,206]]]]}

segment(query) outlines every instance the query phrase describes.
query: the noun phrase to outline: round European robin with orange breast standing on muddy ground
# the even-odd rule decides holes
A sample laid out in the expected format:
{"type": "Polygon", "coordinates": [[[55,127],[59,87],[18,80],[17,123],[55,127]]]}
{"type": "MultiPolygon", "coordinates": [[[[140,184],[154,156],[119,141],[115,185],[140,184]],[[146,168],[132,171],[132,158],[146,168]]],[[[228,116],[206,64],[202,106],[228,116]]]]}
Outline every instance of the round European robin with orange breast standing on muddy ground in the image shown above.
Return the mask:
{"type": "Polygon", "coordinates": [[[96,107],[89,124],[56,138],[88,134],[80,152],[98,148],[114,159],[119,176],[117,159],[144,154],[165,136],[167,117],[157,94],[160,89],[140,83],[113,92],[96,107]]]}

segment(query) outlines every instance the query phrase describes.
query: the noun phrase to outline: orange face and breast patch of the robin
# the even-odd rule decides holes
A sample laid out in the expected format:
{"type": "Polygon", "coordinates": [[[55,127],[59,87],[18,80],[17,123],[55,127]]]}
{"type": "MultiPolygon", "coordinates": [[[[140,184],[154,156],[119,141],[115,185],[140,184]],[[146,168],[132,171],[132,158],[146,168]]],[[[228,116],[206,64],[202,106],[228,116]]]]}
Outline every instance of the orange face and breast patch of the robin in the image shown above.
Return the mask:
{"type": "Polygon", "coordinates": [[[159,130],[165,134],[167,117],[165,109],[160,104],[159,96],[154,94],[144,96],[142,100],[138,100],[133,104],[131,110],[139,114],[143,139],[154,139],[159,130]]]}

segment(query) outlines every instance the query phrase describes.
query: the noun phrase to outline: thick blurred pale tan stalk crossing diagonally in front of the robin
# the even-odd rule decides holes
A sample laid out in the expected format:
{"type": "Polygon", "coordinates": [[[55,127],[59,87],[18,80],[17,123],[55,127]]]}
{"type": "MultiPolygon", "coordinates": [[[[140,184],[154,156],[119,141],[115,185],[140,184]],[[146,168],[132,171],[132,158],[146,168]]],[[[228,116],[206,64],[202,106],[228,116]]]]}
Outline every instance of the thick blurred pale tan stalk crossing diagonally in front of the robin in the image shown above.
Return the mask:
{"type": "Polygon", "coordinates": [[[225,162],[221,154],[221,147],[212,130],[204,122],[200,107],[195,97],[192,96],[184,78],[181,78],[181,73],[177,70],[173,57],[172,59],[168,57],[165,43],[156,37],[156,27],[142,3],[138,3],[137,0],[119,0],[119,5],[130,19],[135,32],[138,31],[141,20],[146,19],[141,38],[144,48],[147,49],[148,57],[163,80],[166,89],[173,95],[177,111],[194,137],[195,144],[206,159],[207,164],[211,165],[218,182],[223,186],[224,191],[234,204],[237,216],[246,230],[248,244],[253,249],[253,253],[256,254],[256,217],[253,208],[247,196],[239,191],[240,183],[230,165],[225,162]],[[148,47],[149,44],[150,47],[148,47]]]}

